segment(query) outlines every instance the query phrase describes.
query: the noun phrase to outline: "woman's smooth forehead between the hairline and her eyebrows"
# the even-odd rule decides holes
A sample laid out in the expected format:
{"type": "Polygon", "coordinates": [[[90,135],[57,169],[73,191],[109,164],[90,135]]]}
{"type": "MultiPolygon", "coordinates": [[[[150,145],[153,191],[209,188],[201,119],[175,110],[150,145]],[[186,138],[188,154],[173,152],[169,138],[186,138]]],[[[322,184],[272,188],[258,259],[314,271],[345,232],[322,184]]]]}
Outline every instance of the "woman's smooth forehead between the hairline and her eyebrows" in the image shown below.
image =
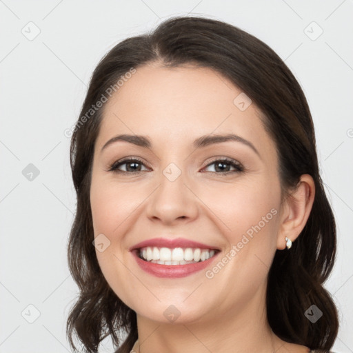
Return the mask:
{"type": "Polygon", "coordinates": [[[250,103],[229,79],[211,68],[145,65],[105,103],[97,145],[118,133],[147,135],[163,145],[194,141],[204,134],[234,133],[260,150],[271,148],[259,110],[254,103],[239,109],[239,99],[250,103]]]}

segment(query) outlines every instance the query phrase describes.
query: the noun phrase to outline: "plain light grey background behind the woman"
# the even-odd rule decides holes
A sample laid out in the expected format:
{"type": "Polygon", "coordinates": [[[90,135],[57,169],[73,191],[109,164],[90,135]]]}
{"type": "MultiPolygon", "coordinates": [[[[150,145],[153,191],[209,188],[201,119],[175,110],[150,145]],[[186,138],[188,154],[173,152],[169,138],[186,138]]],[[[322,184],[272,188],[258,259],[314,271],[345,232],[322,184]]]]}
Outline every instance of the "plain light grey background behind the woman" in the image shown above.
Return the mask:
{"type": "MultiPolygon", "coordinates": [[[[64,131],[103,54],[175,14],[205,14],[254,34],[301,83],[338,225],[338,257],[326,283],[341,321],[334,350],[353,352],[352,0],[0,0],[0,352],[70,351],[65,320],[77,287],[66,244],[75,194],[64,131]],[[32,181],[22,173],[29,163],[39,170],[32,181]],[[28,305],[40,312],[33,323],[28,305]]],[[[110,340],[101,352],[112,352],[110,340]]]]}

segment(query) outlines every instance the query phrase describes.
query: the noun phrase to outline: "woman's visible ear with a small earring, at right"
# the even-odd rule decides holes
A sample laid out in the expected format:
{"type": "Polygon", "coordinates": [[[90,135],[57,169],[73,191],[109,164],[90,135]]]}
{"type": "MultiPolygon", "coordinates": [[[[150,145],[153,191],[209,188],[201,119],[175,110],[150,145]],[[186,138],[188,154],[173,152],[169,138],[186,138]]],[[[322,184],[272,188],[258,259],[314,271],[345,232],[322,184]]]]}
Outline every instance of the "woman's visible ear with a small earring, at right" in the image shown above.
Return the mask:
{"type": "Polygon", "coordinates": [[[314,179],[309,174],[303,174],[297,187],[283,202],[281,219],[279,220],[277,249],[285,249],[286,236],[292,242],[298,238],[310,216],[314,196],[314,179]]]}

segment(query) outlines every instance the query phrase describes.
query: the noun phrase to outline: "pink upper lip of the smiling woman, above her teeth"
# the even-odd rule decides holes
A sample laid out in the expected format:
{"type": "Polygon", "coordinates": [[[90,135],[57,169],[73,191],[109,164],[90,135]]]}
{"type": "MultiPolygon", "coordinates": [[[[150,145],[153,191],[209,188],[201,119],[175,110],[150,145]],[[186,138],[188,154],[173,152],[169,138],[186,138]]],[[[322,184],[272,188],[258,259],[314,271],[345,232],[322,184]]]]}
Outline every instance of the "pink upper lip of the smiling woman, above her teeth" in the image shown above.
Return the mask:
{"type": "Polygon", "coordinates": [[[170,239],[170,238],[153,238],[148,239],[145,241],[141,241],[133,245],[129,250],[136,250],[141,248],[150,247],[157,247],[157,248],[201,248],[201,249],[210,249],[210,250],[219,250],[218,248],[214,247],[213,245],[207,245],[203,243],[199,243],[198,241],[192,241],[185,238],[177,238],[177,239],[170,239]]]}

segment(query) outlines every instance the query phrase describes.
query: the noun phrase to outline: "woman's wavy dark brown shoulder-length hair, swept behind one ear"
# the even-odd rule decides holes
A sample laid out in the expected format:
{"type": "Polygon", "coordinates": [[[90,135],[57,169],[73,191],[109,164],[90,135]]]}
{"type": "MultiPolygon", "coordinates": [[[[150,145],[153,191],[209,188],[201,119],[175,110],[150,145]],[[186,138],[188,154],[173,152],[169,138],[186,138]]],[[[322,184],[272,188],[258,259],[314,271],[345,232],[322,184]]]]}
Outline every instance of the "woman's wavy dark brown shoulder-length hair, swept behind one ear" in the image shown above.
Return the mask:
{"type": "MultiPolygon", "coordinates": [[[[175,68],[193,63],[223,74],[252,99],[263,114],[276,144],[284,192],[295,188],[302,174],[315,183],[315,198],[305,228],[290,251],[276,251],[268,276],[267,312],[273,332],[283,341],[328,352],[338,334],[336,306],[323,283],[336,256],[336,225],[319,174],[314,125],[303,90],[281,58],[265,43],[243,30],[205,17],[172,17],[146,34],[125,39],[101,59],[92,74],[80,116],[116,85],[131,68],[159,62],[175,68]],[[311,306],[323,316],[312,323],[311,306]]],[[[87,116],[87,114],[86,114],[87,116]]],[[[90,175],[94,143],[103,109],[77,122],[71,141],[72,178],[77,213],[68,242],[70,272],[79,298],[68,316],[72,348],[75,335],[87,352],[111,336],[117,352],[130,352],[137,340],[136,313],[126,306],[99,268],[92,241],[90,175]],[[79,124],[80,123],[80,124],[79,124]],[[123,341],[119,334],[128,334],[123,341]]]]}

